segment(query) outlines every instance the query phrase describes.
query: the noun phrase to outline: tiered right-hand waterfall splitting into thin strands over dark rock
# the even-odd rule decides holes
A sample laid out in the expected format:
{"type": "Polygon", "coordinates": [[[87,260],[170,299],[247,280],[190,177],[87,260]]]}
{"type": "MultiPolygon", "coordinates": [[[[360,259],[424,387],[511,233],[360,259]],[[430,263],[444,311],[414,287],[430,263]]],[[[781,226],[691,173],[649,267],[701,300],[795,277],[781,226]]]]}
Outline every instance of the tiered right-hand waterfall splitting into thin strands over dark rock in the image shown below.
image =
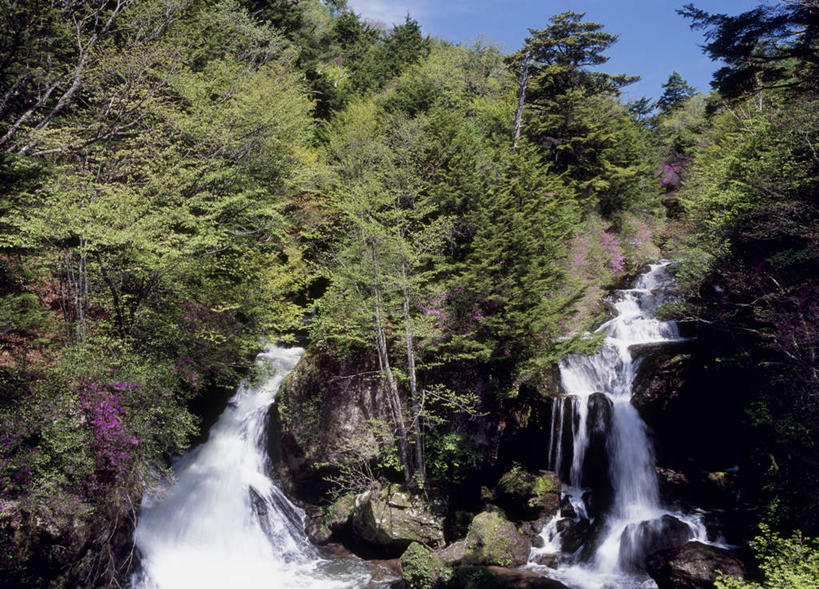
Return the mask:
{"type": "MultiPolygon", "coordinates": [[[[615,317],[598,328],[605,334],[598,352],[568,356],[560,365],[566,395],[553,400],[549,468],[564,481],[564,499],[576,519],[592,511],[587,487],[596,486],[600,493],[604,485],[601,494],[608,499],[601,508],[596,498],[596,518],[586,540],[591,545],[571,555],[564,550],[561,566],[544,571],[580,589],[655,586],[640,571],[648,546],[656,547],[670,535],[706,541],[697,515],[675,513],[661,505],[653,446],[630,402],[639,363],[632,357],[632,346],[682,339],[674,322],[652,317],[660,305],[673,302],[667,266],[667,262],[651,265],[634,288],[615,293],[615,317]]],[[[544,546],[533,550],[533,563],[562,548],[559,518],[544,528],[544,546]]]]}

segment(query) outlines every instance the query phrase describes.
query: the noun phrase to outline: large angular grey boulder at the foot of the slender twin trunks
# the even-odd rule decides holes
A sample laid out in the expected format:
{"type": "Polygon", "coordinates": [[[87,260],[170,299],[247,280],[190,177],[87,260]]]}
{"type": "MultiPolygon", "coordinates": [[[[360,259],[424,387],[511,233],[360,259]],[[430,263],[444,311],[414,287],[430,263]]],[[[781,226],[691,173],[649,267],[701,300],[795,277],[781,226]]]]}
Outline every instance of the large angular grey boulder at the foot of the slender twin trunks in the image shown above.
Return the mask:
{"type": "Polygon", "coordinates": [[[443,518],[400,490],[367,491],[356,496],[351,520],[356,536],[387,548],[403,551],[412,542],[427,546],[444,542],[443,518]]]}

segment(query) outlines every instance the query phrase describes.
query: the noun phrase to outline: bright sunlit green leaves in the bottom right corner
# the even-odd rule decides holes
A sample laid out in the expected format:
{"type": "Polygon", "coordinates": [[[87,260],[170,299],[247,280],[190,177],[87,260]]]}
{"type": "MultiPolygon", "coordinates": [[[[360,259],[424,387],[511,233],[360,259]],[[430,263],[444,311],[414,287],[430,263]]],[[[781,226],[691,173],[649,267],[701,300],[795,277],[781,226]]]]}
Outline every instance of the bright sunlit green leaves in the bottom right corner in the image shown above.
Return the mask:
{"type": "Polygon", "coordinates": [[[751,541],[759,569],[761,583],[741,581],[722,576],[715,583],[717,589],[803,589],[819,586],[819,540],[805,538],[796,531],[783,538],[766,524],[759,526],[759,535],[751,541]]]}

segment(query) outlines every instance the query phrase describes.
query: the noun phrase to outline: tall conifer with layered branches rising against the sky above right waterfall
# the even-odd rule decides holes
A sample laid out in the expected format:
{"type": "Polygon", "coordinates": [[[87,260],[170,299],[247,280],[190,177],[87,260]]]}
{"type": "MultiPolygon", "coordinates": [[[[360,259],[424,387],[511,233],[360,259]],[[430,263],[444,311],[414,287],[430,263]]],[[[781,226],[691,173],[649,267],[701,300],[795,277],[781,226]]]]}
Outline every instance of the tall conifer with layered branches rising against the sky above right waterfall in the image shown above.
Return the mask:
{"type": "Polygon", "coordinates": [[[583,14],[552,17],[513,58],[532,61],[526,134],[543,146],[543,161],[569,179],[581,210],[614,218],[651,196],[651,146],[646,127],[617,103],[618,89],[637,77],[592,71],[617,40],[583,14]],[[605,113],[605,114],[603,114],[605,113]]]}

